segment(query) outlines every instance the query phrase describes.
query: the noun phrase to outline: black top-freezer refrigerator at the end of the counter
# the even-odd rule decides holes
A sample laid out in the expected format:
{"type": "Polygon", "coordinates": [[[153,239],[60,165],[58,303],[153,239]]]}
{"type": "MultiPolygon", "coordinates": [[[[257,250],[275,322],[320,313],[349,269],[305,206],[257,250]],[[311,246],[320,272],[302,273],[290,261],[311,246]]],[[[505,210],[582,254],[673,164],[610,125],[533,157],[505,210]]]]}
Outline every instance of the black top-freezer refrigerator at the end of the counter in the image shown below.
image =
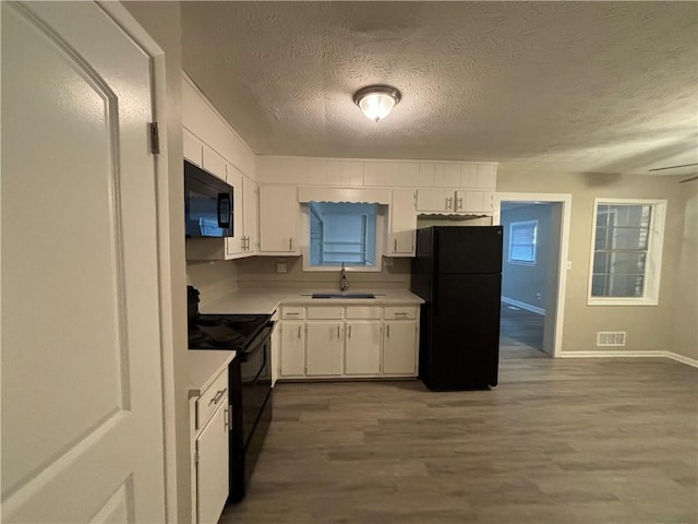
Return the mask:
{"type": "Polygon", "coordinates": [[[411,290],[424,299],[419,377],[434,391],[497,384],[502,226],[417,231],[411,290]]]}

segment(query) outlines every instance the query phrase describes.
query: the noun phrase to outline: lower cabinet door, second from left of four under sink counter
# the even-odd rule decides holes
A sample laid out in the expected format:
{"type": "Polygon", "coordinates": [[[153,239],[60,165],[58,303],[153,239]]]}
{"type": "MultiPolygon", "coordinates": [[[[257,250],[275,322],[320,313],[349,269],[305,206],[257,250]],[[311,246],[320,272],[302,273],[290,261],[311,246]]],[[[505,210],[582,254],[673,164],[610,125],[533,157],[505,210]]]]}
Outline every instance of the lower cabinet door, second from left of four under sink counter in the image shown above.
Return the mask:
{"type": "Polygon", "coordinates": [[[342,374],[342,322],[308,322],[305,374],[308,377],[337,377],[342,374]]]}

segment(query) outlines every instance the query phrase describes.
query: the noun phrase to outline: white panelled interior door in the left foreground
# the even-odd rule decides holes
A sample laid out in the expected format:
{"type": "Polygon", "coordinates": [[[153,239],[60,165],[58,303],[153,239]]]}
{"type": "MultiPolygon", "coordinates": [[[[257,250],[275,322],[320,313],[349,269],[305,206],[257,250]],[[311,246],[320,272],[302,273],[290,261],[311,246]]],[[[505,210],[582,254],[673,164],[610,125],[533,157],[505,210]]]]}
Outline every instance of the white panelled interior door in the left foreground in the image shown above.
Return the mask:
{"type": "Polygon", "coordinates": [[[163,522],[149,58],[2,2],[2,521],[163,522]]]}

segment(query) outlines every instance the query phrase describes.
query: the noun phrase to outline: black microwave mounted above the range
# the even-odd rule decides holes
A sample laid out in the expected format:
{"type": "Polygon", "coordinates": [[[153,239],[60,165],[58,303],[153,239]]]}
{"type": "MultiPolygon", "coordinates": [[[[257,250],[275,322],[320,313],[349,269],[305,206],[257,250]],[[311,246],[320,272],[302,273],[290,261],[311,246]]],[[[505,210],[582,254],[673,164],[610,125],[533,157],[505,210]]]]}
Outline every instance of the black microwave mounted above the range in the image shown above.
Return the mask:
{"type": "Polygon", "coordinates": [[[186,238],[232,237],[232,186],[184,160],[186,238]]]}

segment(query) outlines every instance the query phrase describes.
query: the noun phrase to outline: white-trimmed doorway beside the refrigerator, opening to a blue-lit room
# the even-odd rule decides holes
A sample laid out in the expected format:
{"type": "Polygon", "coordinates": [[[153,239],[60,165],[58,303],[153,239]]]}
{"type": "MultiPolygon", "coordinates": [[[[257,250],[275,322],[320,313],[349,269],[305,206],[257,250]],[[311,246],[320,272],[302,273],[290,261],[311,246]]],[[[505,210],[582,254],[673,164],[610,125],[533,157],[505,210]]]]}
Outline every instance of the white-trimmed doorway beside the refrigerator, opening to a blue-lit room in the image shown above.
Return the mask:
{"type": "Polygon", "coordinates": [[[497,193],[502,225],[502,358],[559,354],[571,195],[497,193]]]}

